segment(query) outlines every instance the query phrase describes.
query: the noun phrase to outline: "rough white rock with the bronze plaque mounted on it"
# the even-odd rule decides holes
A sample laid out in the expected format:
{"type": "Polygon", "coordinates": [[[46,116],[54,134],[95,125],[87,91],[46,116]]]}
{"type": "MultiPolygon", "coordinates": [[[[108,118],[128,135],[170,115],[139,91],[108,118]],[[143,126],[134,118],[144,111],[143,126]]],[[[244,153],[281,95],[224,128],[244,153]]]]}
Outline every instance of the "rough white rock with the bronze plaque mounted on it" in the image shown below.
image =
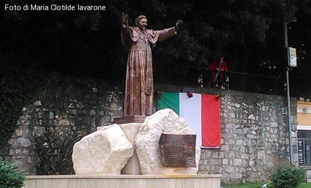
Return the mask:
{"type": "Polygon", "coordinates": [[[186,120],[173,110],[163,109],[146,117],[135,137],[136,148],[142,174],[197,174],[201,149],[196,144],[196,167],[163,167],[159,152],[161,133],[194,134],[186,120]]]}

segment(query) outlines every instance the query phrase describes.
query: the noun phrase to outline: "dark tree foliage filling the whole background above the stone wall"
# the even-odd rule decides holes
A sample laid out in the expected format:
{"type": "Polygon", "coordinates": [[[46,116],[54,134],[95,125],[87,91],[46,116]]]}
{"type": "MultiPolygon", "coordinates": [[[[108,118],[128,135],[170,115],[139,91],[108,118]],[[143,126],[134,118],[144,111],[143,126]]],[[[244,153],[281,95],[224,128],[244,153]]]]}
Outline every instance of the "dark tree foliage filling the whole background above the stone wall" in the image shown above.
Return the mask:
{"type": "MultiPolygon", "coordinates": [[[[9,5],[23,6],[25,2],[4,0],[9,5]]],[[[77,0],[74,4],[69,0],[32,0],[31,4],[106,6],[107,10],[2,10],[2,59],[10,60],[15,67],[36,66],[66,75],[121,80],[127,59],[120,41],[122,12],[128,14],[131,26],[136,16],[146,15],[151,29],[172,27],[177,20],[183,20],[178,35],[160,42],[152,52],[153,65],[157,66],[154,72],[159,75],[169,63],[206,67],[222,55],[230,71],[284,77],[282,23],[297,17],[288,30],[288,44],[297,48],[300,64],[292,71],[293,78],[299,78],[292,79],[292,90],[310,93],[306,88],[311,85],[307,79],[311,66],[311,2],[307,0],[77,0]],[[263,62],[271,62],[275,70],[271,71],[270,65],[262,66],[263,62]]],[[[170,70],[186,71],[180,67],[170,70]]]]}

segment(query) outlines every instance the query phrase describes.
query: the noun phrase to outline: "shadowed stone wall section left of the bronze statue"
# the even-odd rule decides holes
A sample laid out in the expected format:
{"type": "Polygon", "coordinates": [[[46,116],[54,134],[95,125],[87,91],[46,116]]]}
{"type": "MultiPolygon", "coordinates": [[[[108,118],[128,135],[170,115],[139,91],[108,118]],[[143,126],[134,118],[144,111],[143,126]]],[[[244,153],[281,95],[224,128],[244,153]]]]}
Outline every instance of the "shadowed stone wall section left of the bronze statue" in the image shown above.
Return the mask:
{"type": "Polygon", "coordinates": [[[23,108],[15,134],[0,149],[0,159],[9,158],[20,164],[21,171],[36,174],[35,138],[47,127],[84,129],[110,124],[122,115],[122,83],[87,78],[60,77],[47,94],[23,108]]]}

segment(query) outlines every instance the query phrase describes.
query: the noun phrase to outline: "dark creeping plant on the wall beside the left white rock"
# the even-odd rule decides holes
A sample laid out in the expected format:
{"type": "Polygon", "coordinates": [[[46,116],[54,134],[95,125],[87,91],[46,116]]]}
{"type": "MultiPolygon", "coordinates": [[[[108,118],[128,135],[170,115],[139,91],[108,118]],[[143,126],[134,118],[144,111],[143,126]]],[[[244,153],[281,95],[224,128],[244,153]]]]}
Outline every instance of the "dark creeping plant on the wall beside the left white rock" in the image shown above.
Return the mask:
{"type": "Polygon", "coordinates": [[[87,134],[87,130],[46,127],[43,135],[35,137],[38,175],[74,174],[71,160],[74,143],[87,134]]]}

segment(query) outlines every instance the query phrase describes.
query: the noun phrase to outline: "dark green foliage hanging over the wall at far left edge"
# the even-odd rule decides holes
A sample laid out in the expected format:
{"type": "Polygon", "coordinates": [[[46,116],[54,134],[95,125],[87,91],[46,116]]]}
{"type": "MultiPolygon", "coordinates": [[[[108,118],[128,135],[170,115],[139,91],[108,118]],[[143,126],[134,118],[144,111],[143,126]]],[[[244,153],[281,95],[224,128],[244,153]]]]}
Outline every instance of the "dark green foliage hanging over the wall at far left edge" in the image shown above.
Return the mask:
{"type": "Polygon", "coordinates": [[[0,147],[15,131],[22,108],[29,105],[34,97],[44,95],[46,86],[58,75],[35,70],[0,69],[0,147]]]}

